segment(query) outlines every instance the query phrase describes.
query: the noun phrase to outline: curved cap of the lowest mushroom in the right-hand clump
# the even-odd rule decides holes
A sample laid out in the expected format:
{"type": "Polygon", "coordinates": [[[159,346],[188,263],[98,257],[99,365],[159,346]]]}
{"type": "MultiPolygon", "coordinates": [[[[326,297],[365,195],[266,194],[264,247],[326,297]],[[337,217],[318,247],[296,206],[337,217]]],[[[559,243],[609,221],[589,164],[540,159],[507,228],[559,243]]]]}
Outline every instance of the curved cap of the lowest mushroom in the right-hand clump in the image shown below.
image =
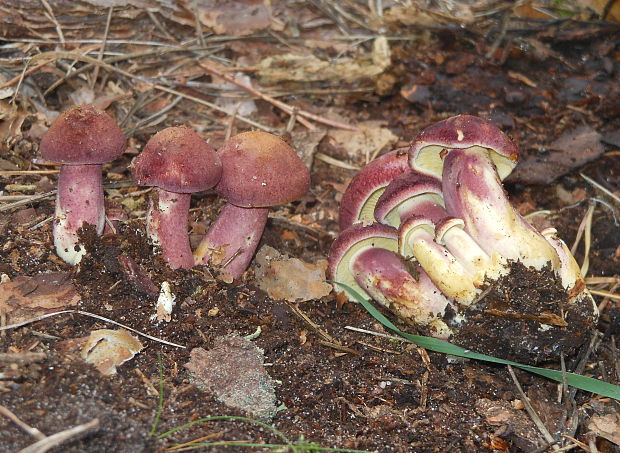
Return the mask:
{"type": "MultiPolygon", "coordinates": [[[[396,252],[398,250],[397,231],[381,223],[370,225],[356,223],[350,226],[340,233],[329,250],[328,279],[344,283],[362,296],[366,295],[366,291],[355,281],[351,265],[362,251],[377,247],[396,252]]],[[[337,289],[341,288],[337,287],[337,289]]],[[[345,292],[349,298],[354,300],[346,289],[345,292]]]]}

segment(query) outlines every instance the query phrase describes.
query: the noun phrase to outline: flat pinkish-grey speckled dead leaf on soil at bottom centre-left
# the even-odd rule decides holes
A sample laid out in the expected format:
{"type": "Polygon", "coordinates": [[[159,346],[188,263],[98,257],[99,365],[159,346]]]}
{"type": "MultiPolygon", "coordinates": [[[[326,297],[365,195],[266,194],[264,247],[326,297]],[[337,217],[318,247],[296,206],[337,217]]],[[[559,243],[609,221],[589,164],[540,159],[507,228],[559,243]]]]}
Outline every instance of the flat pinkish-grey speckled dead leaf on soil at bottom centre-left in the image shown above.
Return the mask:
{"type": "Polygon", "coordinates": [[[265,370],[264,351],[238,336],[218,338],[209,351],[194,348],[185,364],[190,382],[229,407],[271,420],[276,413],[273,379],[265,370]]]}

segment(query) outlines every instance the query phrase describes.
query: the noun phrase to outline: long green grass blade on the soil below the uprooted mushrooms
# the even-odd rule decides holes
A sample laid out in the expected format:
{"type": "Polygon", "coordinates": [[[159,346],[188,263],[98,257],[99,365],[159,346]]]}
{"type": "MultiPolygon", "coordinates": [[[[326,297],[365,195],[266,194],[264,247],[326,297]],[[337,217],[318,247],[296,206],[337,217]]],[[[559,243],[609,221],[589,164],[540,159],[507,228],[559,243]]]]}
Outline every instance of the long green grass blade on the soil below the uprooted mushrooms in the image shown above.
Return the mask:
{"type": "Polygon", "coordinates": [[[513,362],[511,360],[499,359],[497,357],[493,357],[486,354],[480,354],[478,352],[470,351],[469,349],[461,348],[460,346],[456,346],[452,343],[448,343],[447,341],[439,340],[437,338],[432,337],[424,337],[420,335],[411,335],[405,332],[402,332],[398,327],[396,327],[389,319],[387,319],[383,314],[381,314],[370,302],[369,299],[366,299],[353,288],[344,283],[332,282],[335,283],[342,288],[346,289],[360,304],[364,306],[364,308],[381,324],[385,327],[392,329],[398,335],[406,338],[407,340],[417,344],[418,346],[428,349],[429,351],[441,352],[443,354],[454,355],[458,357],[464,357],[467,359],[474,360],[483,360],[485,362],[498,363],[502,365],[512,365],[516,368],[520,368],[525,371],[529,371],[530,373],[538,374],[540,376],[544,376],[546,378],[552,379],[557,382],[564,382],[564,376],[566,377],[566,382],[568,385],[572,385],[581,390],[585,390],[587,392],[596,393],[601,396],[606,396],[609,398],[614,398],[616,400],[620,400],[620,387],[614,384],[610,384],[609,382],[600,381],[598,379],[582,376],[580,374],[575,373],[562,373],[559,370],[550,370],[547,368],[539,368],[531,365],[523,365],[521,363],[513,362]]]}

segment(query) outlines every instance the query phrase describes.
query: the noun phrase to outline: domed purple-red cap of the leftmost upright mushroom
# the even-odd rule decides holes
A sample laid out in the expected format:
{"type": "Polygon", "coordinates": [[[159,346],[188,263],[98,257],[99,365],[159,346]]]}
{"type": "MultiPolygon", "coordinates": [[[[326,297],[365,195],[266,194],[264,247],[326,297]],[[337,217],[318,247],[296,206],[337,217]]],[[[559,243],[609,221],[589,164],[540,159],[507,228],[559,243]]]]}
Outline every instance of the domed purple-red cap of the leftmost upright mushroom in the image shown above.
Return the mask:
{"type": "Polygon", "coordinates": [[[99,165],[125,150],[125,136],[116,121],[92,105],[60,114],[43,136],[41,157],[66,165],[99,165]]]}

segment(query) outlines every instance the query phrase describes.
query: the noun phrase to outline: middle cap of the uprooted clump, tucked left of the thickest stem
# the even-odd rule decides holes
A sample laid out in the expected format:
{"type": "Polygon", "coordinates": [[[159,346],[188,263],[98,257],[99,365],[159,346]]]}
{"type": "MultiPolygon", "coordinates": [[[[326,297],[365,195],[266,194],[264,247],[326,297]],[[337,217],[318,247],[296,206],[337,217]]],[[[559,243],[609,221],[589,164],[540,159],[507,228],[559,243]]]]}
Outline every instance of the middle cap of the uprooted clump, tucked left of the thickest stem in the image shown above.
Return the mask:
{"type": "Polygon", "coordinates": [[[420,213],[433,221],[445,217],[441,181],[407,171],[395,177],[388,184],[375,205],[375,219],[378,222],[398,228],[401,217],[420,213]],[[418,211],[423,212],[418,212],[418,211]]]}

